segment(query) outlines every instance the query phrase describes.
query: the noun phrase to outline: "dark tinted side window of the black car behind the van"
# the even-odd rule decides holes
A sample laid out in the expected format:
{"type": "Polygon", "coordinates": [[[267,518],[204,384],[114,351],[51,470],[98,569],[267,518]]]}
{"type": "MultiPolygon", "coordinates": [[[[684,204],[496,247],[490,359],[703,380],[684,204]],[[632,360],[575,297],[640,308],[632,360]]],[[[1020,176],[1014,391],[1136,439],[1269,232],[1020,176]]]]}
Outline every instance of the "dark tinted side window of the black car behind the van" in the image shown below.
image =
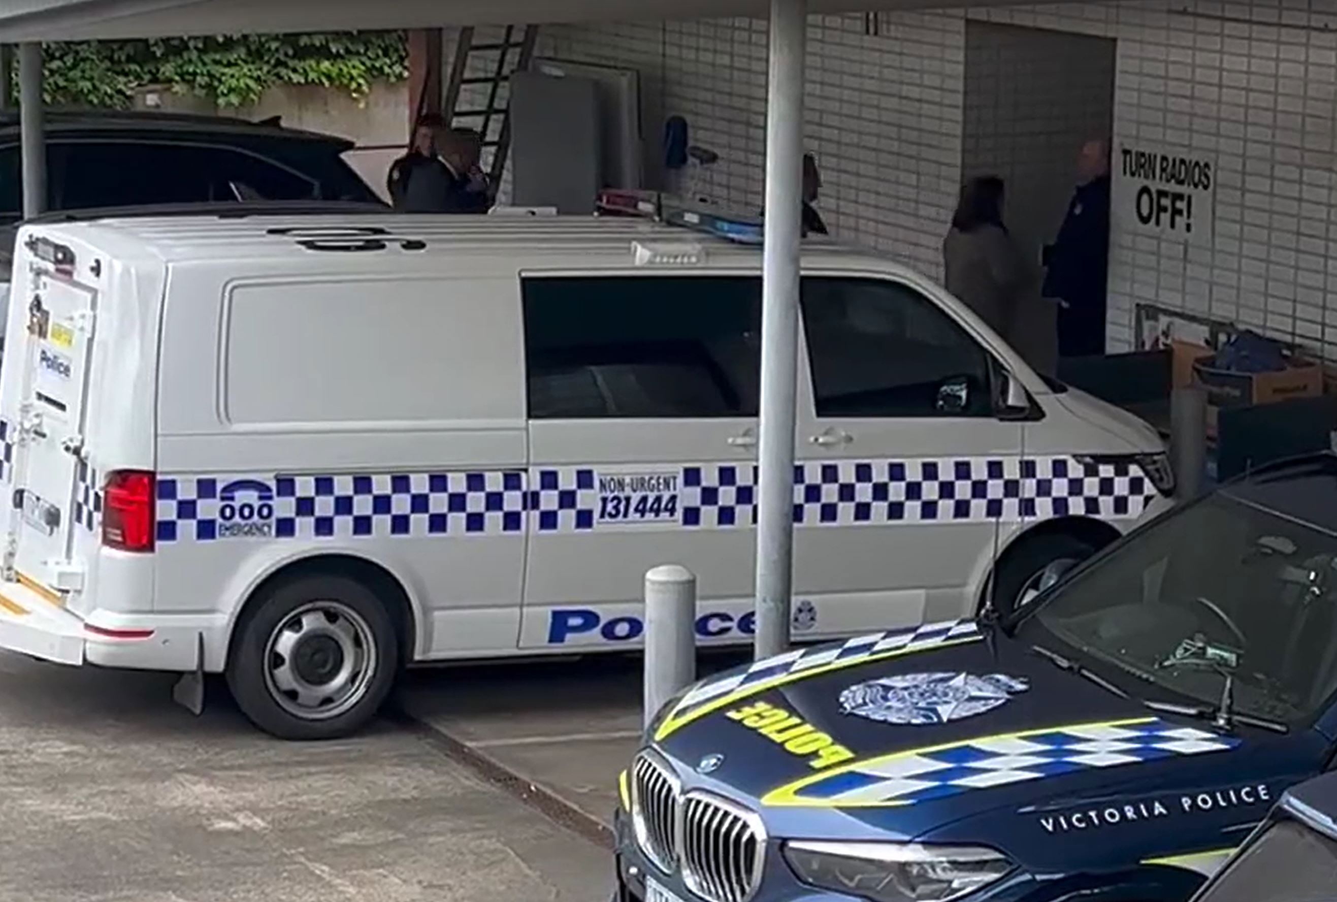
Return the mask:
{"type": "Polygon", "coordinates": [[[57,147],[56,208],[209,200],[305,200],[316,184],[263,159],[218,147],[119,142],[57,147]]]}

